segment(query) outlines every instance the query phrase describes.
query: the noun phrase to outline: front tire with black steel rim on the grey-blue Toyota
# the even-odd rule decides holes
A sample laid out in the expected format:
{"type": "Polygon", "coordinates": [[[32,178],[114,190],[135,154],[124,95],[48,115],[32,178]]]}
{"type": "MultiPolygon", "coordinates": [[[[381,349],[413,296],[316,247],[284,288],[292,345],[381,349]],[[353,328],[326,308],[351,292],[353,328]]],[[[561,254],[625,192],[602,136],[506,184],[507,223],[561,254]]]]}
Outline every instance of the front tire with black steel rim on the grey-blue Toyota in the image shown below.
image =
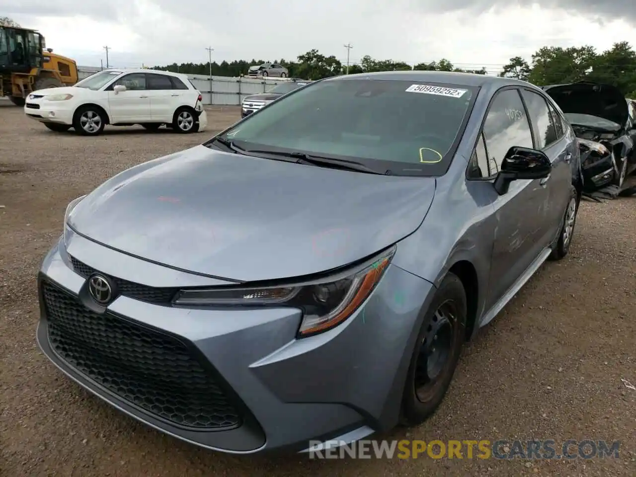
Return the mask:
{"type": "Polygon", "coordinates": [[[422,424],[448,391],[466,339],[466,291],[454,273],[439,285],[424,315],[402,396],[401,424],[422,424]]]}

